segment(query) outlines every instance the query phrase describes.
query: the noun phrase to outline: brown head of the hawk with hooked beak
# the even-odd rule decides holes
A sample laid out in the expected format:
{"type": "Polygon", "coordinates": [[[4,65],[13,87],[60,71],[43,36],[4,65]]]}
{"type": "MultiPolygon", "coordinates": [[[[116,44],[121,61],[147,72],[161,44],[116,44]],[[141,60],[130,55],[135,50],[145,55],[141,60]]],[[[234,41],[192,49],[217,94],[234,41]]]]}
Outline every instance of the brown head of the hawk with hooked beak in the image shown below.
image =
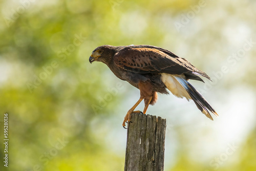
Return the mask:
{"type": "Polygon", "coordinates": [[[109,63],[111,61],[111,58],[115,54],[115,47],[111,45],[103,45],[99,46],[96,49],[93,50],[89,61],[92,63],[93,61],[100,61],[103,63],[109,63]]]}

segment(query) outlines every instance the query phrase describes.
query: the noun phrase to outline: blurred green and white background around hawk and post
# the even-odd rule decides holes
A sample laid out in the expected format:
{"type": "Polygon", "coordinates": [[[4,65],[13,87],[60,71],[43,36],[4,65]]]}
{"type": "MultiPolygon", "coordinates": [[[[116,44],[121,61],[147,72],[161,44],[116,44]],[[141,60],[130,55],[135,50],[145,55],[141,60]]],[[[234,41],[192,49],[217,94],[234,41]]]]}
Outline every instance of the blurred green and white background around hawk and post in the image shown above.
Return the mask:
{"type": "Polygon", "coordinates": [[[123,170],[121,123],[139,91],[89,63],[105,44],[159,46],[212,78],[190,82],[220,115],[213,122],[173,95],[148,109],[167,119],[165,170],[256,170],[256,1],[2,0],[0,7],[1,130],[9,114],[9,166],[1,143],[0,170],[123,170]]]}

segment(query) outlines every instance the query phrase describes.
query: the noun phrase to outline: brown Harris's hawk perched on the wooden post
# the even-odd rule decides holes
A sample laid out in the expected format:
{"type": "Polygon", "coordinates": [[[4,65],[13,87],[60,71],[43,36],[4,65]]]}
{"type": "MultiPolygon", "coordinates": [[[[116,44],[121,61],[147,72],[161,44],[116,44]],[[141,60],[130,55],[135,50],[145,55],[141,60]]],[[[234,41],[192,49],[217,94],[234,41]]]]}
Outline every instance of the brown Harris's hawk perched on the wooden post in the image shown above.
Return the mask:
{"type": "Polygon", "coordinates": [[[105,63],[120,79],[126,80],[140,90],[140,98],[124,117],[123,126],[130,121],[132,113],[144,99],[146,113],[148,105],[155,104],[157,92],[168,94],[167,89],[179,98],[192,99],[197,108],[211,120],[209,113],[218,116],[205,98],[188,82],[194,79],[204,82],[199,76],[210,79],[203,71],[197,69],[186,59],[174,53],[150,45],[110,46],[97,47],[89,61],[105,63]]]}

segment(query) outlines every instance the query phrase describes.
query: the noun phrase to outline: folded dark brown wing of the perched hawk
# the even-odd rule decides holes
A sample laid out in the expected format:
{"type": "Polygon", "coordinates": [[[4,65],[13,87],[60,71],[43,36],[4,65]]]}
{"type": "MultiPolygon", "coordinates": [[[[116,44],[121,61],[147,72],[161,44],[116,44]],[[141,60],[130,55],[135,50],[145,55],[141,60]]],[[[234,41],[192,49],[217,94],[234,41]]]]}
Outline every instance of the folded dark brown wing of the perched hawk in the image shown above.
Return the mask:
{"type": "Polygon", "coordinates": [[[114,55],[118,67],[135,73],[184,74],[187,79],[203,81],[198,75],[209,76],[184,58],[155,46],[126,46],[114,55]]]}

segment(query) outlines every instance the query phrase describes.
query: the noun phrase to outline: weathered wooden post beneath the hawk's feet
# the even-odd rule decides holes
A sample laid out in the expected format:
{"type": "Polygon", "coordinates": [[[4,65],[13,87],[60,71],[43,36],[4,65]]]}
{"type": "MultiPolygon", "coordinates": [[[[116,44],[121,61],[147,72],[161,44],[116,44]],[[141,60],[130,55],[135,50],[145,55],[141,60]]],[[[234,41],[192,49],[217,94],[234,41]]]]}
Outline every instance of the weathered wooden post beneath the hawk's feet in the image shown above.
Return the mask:
{"type": "Polygon", "coordinates": [[[162,171],[166,119],[132,114],[127,128],[124,171],[162,171]]]}

